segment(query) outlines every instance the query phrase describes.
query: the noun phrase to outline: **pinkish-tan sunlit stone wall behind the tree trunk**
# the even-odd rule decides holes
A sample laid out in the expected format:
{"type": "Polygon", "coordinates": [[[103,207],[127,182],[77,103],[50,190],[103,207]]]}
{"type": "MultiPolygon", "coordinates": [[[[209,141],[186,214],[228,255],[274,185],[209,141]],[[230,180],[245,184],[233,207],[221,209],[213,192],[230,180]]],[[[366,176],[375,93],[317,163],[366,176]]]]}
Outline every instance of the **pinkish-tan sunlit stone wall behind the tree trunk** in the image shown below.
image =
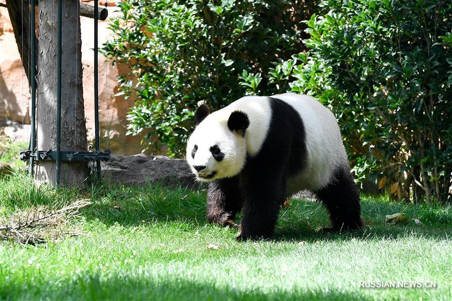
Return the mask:
{"type": "MultiPolygon", "coordinates": [[[[83,1],[93,4],[93,1],[83,1]]],[[[109,1],[109,16],[113,16],[115,2],[109,1]]],[[[100,5],[104,5],[100,1],[100,5]]],[[[99,22],[99,45],[110,38],[109,21],[99,22]]],[[[81,17],[83,95],[88,141],[94,140],[94,20],[81,17]]],[[[75,58],[74,58],[75,60],[75,58]]],[[[56,61],[55,61],[56,64],[56,61]]],[[[56,65],[55,65],[56,66],[56,65]]],[[[110,148],[115,155],[140,153],[142,136],[126,136],[126,115],[134,99],[113,96],[118,91],[116,76],[127,66],[112,66],[99,55],[99,120],[101,149],[110,148]],[[109,139],[107,139],[107,137],[109,139]]],[[[56,70],[56,67],[55,67],[56,70]]],[[[13,28],[6,8],[0,7],[0,118],[29,124],[30,95],[27,76],[22,67],[13,28]]],[[[39,99],[37,99],[39,106],[39,99]]],[[[39,139],[39,138],[38,138],[39,139]]]]}

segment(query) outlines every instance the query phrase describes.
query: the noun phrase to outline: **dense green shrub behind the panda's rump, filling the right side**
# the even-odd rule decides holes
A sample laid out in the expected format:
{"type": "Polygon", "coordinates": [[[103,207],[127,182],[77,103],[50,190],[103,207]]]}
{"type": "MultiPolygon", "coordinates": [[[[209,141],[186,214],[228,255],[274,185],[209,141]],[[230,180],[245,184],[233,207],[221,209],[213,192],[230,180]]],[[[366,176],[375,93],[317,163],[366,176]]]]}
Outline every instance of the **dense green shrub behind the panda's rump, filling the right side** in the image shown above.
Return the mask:
{"type": "Polygon", "coordinates": [[[450,199],[452,2],[321,7],[307,22],[311,50],[279,64],[273,81],[336,113],[359,179],[398,198],[450,199]]]}

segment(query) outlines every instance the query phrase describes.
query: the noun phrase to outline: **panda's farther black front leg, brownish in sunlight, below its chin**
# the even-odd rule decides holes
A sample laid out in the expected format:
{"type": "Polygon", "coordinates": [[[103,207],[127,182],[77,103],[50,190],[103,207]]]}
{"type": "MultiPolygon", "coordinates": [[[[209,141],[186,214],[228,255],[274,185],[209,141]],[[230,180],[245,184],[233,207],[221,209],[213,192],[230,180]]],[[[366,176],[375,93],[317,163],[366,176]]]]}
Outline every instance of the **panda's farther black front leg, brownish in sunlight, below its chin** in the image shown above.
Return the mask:
{"type": "Polygon", "coordinates": [[[207,192],[207,220],[210,223],[230,225],[241,208],[241,192],[238,178],[224,178],[209,183],[207,192]]]}

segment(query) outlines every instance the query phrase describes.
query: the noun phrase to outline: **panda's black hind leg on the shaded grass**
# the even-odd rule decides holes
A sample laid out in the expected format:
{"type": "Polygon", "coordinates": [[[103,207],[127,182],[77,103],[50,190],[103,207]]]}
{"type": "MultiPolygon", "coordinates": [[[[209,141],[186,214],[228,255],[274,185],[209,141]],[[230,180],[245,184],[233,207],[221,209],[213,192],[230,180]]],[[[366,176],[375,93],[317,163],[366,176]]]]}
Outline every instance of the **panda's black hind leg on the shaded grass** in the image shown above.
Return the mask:
{"type": "Polygon", "coordinates": [[[333,230],[354,230],[363,226],[358,188],[348,168],[339,168],[334,179],[315,191],[327,208],[333,230]]]}

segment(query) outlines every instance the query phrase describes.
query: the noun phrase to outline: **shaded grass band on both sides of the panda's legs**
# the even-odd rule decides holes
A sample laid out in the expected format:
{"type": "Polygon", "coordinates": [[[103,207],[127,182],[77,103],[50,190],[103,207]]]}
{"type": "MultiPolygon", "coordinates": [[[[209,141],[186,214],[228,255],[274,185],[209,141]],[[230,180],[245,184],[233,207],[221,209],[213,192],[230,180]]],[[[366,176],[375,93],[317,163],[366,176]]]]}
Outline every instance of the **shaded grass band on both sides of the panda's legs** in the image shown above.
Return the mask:
{"type": "MultiPolygon", "coordinates": [[[[107,186],[103,195],[95,195],[95,205],[85,212],[87,219],[99,219],[106,225],[119,223],[135,227],[142,221],[153,223],[179,223],[203,226],[207,224],[206,193],[159,185],[145,187],[107,186]]],[[[450,239],[452,208],[421,205],[406,206],[375,198],[364,197],[363,218],[367,225],[357,231],[325,233],[319,228],[328,227],[326,210],[319,203],[292,200],[280,213],[274,240],[317,241],[374,238],[401,238],[424,235],[432,239],[450,239]],[[403,212],[409,218],[406,224],[386,224],[385,215],[403,212]],[[414,219],[423,224],[416,225],[414,219]]],[[[240,221],[240,216],[236,222],[240,221]]]]}

